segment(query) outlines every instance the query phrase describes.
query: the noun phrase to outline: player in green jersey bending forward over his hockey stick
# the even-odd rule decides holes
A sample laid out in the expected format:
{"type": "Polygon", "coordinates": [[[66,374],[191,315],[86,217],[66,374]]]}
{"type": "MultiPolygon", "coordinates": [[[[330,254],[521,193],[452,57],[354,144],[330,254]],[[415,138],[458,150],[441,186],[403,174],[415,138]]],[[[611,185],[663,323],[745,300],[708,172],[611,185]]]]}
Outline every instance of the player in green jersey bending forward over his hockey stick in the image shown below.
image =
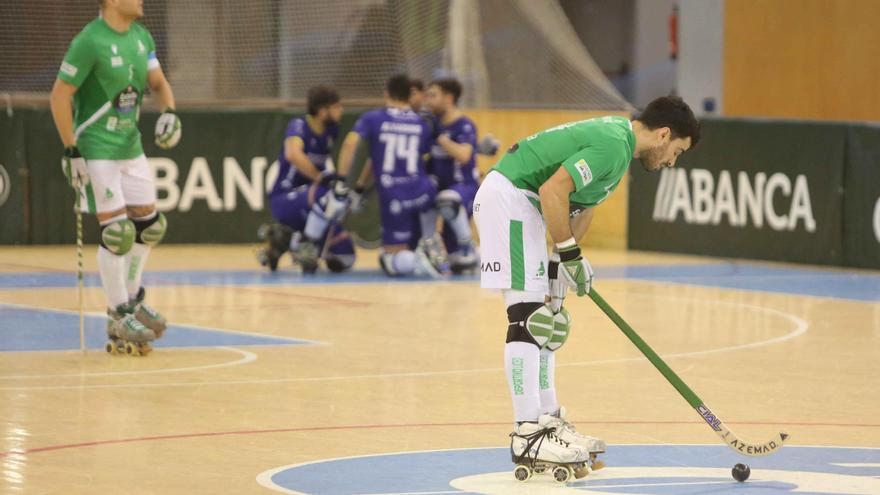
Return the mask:
{"type": "Polygon", "coordinates": [[[507,304],[504,368],[516,421],[515,462],[537,457],[577,465],[605,451],[605,442],[574,430],[556,400],[554,352],[571,327],[562,303],[569,287],[586,295],[593,278],[578,240],[593,207],[614,191],[633,158],[652,171],[672,167],[699,139],[687,104],[662,97],[632,121],[601,117],[529,136],[480,186],[474,218],[481,286],[501,289],[507,304]],[[555,243],[549,255],[547,231],[555,243]]]}

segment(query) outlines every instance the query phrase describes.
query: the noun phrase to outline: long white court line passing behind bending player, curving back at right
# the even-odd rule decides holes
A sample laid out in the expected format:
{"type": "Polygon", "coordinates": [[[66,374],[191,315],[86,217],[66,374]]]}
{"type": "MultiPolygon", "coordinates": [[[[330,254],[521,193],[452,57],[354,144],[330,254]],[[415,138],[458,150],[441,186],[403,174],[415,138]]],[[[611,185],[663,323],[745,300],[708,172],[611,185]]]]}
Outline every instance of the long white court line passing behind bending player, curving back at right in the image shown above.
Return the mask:
{"type": "MultiPolygon", "coordinates": [[[[682,298],[676,296],[660,296],[660,295],[649,295],[649,294],[629,294],[635,296],[643,296],[650,298],[658,298],[658,299],[674,299],[674,300],[686,300],[692,301],[690,298],[682,298]]],[[[809,324],[802,318],[799,318],[790,313],[785,313],[783,311],[778,311],[770,308],[763,308],[761,306],[755,306],[751,304],[743,304],[743,303],[735,303],[735,302],[725,302],[725,301],[712,301],[701,299],[701,303],[713,303],[713,304],[721,304],[735,307],[745,307],[759,312],[769,313],[774,316],[779,316],[784,319],[787,319],[795,324],[794,330],[791,332],[782,335],[780,337],[774,337],[767,340],[762,340],[758,342],[751,342],[748,344],[739,344],[734,346],[727,347],[719,347],[716,349],[707,349],[702,351],[690,351],[690,352],[679,352],[672,354],[663,354],[661,357],[663,359],[671,359],[671,358],[682,358],[682,357],[697,357],[704,356],[708,354],[717,354],[722,352],[732,352],[739,351],[743,349],[754,349],[757,347],[764,347],[768,345],[779,344],[782,342],[786,342],[797,337],[800,337],[809,329],[809,324]]],[[[582,367],[582,366],[598,366],[604,364],[619,364],[619,363],[631,363],[631,362],[640,362],[640,363],[649,363],[648,359],[644,356],[631,357],[631,358],[616,358],[616,359],[601,359],[596,361],[581,361],[574,363],[560,363],[557,364],[556,367],[582,367]]],[[[260,378],[253,380],[226,380],[226,381],[210,381],[210,382],[169,382],[169,383],[125,383],[125,384],[105,384],[105,385],[54,385],[54,386],[33,386],[33,387],[0,387],[0,390],[65,390],[65,389],[74,389],[74,390],[85,390],[85,389],[106,389],[106,388],[150,388],[150,387],[202,387],[207,385],[262,385],[262,384],[270,384],[270,383],[292,383],[292,382],[330,382],[330,381],[340,381],[340,380],[363,380],[363,379],[383,379],[383,378],[423,378],[423,377],[442,377],[448,375],[459,375],[459,374],[468,374],[468,373],[498,373],[503,371],[503,368],[475,368],[475,369],[464,369],[464,370],[445,370],[445,371],[418,371],[418,372],[403,372],[403,373],[376,373],[376,374],[366,374],[366,375],[345,375],[345,376],[323,376],[323,377],[297,377],[297,378],[260,378]]]]}

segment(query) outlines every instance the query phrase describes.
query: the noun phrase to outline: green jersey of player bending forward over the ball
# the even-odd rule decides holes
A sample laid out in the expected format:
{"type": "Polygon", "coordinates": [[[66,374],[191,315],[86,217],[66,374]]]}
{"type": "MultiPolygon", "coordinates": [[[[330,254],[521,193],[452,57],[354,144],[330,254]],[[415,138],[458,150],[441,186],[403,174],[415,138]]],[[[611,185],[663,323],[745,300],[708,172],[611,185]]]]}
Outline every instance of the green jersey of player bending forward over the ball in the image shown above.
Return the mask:
{"type": "Polygon", "coordinates": [[[516,187],[537,193],[559,167],[565,167],[574,180],[569,202],[574,208],[587,208],[605,201],[617,188],[635,149],[627,118],[600,117],[533,134],[513,145],[493,170],[516,187]]]}

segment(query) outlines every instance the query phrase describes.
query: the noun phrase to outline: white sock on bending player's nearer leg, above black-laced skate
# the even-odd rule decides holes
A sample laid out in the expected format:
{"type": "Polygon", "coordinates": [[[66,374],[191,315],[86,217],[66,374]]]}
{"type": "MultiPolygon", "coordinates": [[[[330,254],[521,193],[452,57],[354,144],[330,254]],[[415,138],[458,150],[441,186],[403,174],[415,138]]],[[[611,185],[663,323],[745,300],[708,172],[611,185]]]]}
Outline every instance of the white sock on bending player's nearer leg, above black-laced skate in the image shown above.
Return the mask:
{"type": "Polygon", "coordinates": [[[514,421],[537,421],[541,413],[538,393],[540,351],[528,342],[504,345],[504,372],[513,399],[514,421]]]}

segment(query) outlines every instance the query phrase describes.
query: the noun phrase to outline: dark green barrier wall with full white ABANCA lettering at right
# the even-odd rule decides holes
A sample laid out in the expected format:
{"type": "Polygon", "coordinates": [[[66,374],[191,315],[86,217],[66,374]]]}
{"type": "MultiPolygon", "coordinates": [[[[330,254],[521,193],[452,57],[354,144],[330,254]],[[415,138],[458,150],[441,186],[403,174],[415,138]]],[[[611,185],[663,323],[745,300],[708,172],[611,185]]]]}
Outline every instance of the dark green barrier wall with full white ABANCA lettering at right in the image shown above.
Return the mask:
{"type": "Polygon", "coordinates": [[[866,125],[706,120],[674,169],[633,162],[629,246],[880,267],[878,138],[866,125]]]}

